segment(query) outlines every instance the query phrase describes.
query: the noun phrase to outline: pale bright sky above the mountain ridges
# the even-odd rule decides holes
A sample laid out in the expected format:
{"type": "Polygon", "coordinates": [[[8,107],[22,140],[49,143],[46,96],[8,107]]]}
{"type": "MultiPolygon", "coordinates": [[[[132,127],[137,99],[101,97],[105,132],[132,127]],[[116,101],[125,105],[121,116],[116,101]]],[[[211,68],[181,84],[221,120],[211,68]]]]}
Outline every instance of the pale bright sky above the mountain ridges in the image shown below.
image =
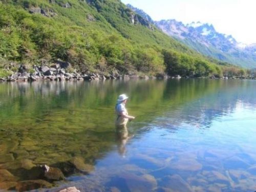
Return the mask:
{"type": "Polygon", "coordinates": [[[214,25],[238,42],[256,43],[255,0],[121,0],[142,9],[154,20],[176,19],[214,25]]]}

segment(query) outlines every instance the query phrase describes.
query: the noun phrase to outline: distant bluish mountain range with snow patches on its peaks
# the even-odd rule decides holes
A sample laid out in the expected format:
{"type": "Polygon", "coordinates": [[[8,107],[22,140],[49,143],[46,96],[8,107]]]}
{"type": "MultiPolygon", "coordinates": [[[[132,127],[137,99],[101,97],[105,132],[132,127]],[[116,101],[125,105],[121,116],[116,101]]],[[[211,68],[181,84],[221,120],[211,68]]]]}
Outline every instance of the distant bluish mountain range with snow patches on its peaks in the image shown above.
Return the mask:
{"type": "Polygon", "coordinates": [[[175,19],[160,20],[155,22],[155,25],[166,34],[204,55],[242,67],[256,67],[253,46],[247,47],[237,42],[231,35],[217,32],[212,25],[200,22],[184,25],[175,19]]]}

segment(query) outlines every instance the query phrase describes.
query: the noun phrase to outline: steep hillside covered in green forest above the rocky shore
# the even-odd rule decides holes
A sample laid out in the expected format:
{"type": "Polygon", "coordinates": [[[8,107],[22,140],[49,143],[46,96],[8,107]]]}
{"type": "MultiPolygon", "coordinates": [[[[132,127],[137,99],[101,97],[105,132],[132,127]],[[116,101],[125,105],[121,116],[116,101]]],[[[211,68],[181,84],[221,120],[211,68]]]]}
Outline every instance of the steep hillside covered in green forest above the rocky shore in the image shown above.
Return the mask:
{"type": "Polygon", "coordinates": [[[0,77],[20,64],[69,61],[89,73],[241,76],[244,69],[190,50],[119,0],[0,1],[0,77]]]}

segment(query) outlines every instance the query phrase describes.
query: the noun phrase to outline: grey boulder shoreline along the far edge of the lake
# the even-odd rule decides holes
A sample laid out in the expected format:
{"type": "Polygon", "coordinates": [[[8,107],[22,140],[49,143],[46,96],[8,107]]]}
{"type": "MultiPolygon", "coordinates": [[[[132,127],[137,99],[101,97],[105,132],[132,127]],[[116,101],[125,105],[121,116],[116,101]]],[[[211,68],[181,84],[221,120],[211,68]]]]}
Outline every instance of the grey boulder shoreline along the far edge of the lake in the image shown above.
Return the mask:
{"type": "Polygon", "coordinates": [[[157,74],[155,76],[148,75],[120,75],[118,73],[112,74],[98,74],[98,73],[78,73],[76,70],[73,70],[71,64],[65,61],[56,61],[56,63],[52,65],[42,65],[42,66],[33,66],[32,71],[28,70],[26,66],[20,65],[18,71],[13,73],[8,77],[0,77],[0,82],[33,82],[40,80],[48,80],[48,81],[92,81],[92,80],[105,80],[105,79],[180,79],[180,78],[211,78],[211,79],[256,79],[256,77],[181,77],[180,75],[176,76],[168,76],[166,74],[157,74]]]}

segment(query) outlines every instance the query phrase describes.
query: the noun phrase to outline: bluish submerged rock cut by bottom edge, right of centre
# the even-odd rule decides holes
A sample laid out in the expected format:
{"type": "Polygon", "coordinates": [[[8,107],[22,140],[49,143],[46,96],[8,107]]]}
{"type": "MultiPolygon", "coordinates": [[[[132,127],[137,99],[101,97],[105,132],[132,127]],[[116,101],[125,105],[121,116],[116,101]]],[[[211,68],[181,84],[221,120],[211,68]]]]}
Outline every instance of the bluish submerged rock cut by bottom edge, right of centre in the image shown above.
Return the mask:
{"type": "Polygon", "coordinates": [[[179,175],[167,176],[163,178],[163,187],[171,189],[171,191],[189,192],[193,189],[179,175]]]}

